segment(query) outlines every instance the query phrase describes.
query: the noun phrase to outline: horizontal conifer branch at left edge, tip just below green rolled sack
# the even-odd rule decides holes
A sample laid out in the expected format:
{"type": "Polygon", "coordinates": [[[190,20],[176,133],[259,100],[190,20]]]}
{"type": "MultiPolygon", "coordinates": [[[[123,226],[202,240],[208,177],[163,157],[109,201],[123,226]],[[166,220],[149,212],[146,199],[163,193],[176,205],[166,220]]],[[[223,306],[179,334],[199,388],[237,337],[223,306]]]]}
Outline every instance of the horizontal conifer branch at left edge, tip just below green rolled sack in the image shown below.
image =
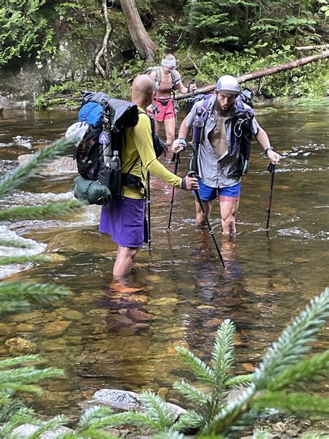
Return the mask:
{"type": "Polygon", "coordinates": [[[17,221],[19,219],[47,219],[65,217],[68,213],[75,212],[85,206],[78,200],[58,201],[44,206],[12,206],[0,210],[1,221],[17,221]]]}

